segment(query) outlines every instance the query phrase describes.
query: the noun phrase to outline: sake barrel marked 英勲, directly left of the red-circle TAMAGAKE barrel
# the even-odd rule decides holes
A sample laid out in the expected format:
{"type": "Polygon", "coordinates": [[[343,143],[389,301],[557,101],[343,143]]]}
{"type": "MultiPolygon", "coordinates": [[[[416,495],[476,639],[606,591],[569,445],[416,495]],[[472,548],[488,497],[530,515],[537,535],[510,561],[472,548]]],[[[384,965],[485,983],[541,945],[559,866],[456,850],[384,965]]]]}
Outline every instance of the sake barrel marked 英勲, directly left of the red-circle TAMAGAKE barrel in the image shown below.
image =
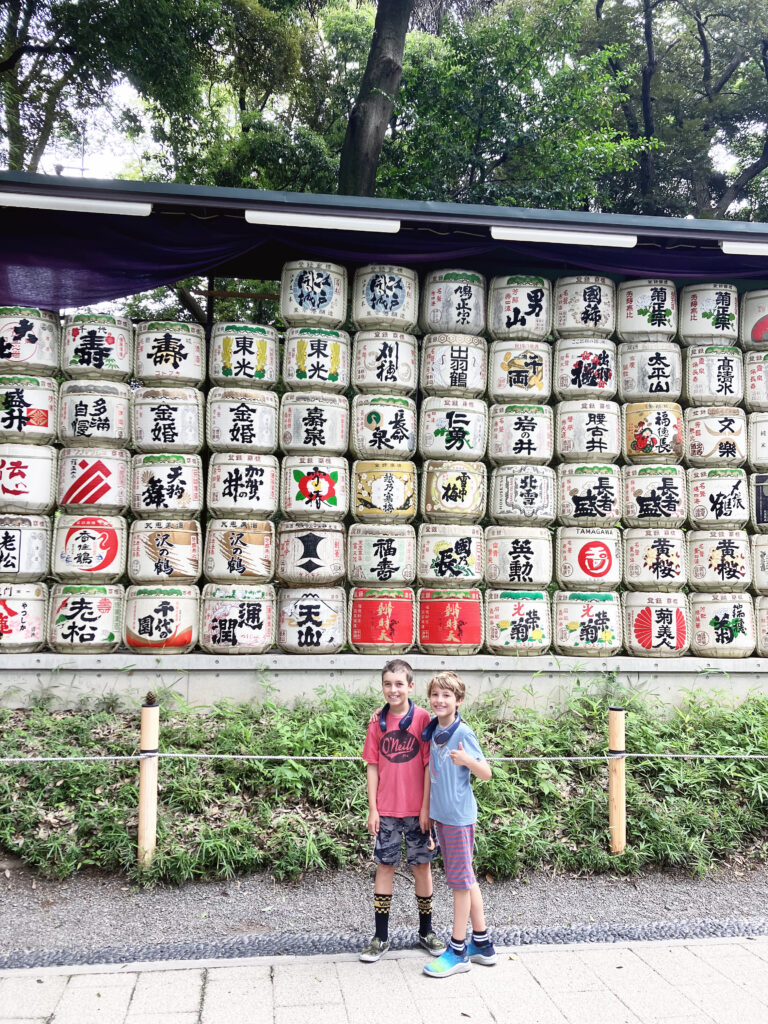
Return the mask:
{"type": "Polygon", "coordinates": [[[545,526],[486,526],[485,580],[494,587],[546,590],[552,583],[552,534],[545,526]]]}

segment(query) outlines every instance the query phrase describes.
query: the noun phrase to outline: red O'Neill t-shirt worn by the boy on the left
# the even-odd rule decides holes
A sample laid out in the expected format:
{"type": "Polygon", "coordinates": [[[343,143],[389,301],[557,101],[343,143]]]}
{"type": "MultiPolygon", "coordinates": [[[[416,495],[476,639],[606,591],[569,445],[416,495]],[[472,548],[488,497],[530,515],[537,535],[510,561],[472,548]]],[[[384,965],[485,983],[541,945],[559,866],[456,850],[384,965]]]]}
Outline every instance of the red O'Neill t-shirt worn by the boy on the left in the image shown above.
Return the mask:
{"type": "Polygon", "coordinates": [[[387,713],[386,731],[379,726],[379,716],[368,727],[362,758],[379,767],[376,809],[383,817],[418,817],[424,800],[424,768],[429,764],[429,743],[421,738],[429,722],[423,708],[414,709],[408,729],[400,729],[402,715],[387,713]]]}

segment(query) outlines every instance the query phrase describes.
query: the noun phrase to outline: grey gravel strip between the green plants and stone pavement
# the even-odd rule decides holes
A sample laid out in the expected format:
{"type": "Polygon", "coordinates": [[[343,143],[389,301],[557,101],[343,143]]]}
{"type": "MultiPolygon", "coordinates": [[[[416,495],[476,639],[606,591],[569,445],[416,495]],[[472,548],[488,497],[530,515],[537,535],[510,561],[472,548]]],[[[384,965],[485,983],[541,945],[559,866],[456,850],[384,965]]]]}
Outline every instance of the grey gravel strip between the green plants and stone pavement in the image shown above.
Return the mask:
{"type": "MultiPolygon", "coordinates": [[[[702,880],[540,871],[481,884],[501,944],[768,934],[766,867],[724,868],[702,880]]],[[[143,891],[94,872],[49,882],[0,859],[0,968],[354,950],[373,931],[372,891],[372,877],[354,871],[295,884],[250,876],[143,891]]],[[[436,871],[436,929],[444,934],[450,920],[450,894],[436,871]]],[[[400,871],[393,944],[411,944],[417,923],[413,882],[400,871]]]]}

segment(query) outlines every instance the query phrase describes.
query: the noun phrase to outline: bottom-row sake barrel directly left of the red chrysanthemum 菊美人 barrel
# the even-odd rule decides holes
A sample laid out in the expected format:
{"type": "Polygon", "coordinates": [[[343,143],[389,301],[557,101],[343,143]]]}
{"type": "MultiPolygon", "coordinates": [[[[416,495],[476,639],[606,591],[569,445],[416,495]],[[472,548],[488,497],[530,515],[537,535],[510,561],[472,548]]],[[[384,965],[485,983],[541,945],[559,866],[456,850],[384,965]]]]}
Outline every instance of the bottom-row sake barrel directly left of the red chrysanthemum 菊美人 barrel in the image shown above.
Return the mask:
{"type": "Polygon", "coordinates": [[[552,595],[552,618],[558,654],[610,657],[622,649],[618,594],[556,590],[552,595]]]}

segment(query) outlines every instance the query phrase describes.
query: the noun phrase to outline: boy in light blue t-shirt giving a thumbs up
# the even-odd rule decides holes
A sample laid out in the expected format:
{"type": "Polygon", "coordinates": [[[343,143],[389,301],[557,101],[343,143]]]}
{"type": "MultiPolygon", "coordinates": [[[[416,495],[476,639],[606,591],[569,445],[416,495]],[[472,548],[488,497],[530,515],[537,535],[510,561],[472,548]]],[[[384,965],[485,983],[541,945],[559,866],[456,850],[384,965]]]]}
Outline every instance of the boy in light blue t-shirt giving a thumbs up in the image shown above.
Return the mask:
{"type": "Polygon", "coordinates": [[[429,739],[429,816],[437,829],[445,881],[454,890],[451,944],[425,965],[424,973],[431,978],[469,971],[470,961],[489,967],[497,959],[472,869],[477,802],[470,779],[488,779],[492,772],[474,732],[459,714],[464,696],[464,683],[455,672],[438,673],[429,681],[427,697],[435,717],[422,733],[422,739],[429,739]],[[470,919],[472,941],[467,945],[470,919]]]}

